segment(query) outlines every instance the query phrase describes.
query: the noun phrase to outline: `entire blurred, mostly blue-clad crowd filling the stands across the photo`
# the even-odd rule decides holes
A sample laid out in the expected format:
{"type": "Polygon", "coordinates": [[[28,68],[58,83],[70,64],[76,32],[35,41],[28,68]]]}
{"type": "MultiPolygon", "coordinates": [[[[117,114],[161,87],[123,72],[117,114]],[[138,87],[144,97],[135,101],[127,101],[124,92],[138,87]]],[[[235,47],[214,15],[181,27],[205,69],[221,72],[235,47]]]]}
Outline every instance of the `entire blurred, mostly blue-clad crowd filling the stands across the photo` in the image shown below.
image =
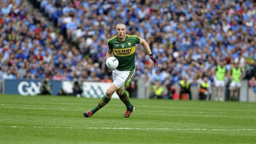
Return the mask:
{"type": "Polygon", "coordinates": [[[104,62],[117,23],[144,38],[158,60],[154,67],[138,45],[134,79],[177,85],[185,77],[197,85],[207,77],[212,83],[221,60],[227,70],[239,63],[246,79],[255,75],[256,3],[250,0],[33,2],[55,28],[27,12],[22,0],[2,0],[1,78],[109,81],[104,62]]]}

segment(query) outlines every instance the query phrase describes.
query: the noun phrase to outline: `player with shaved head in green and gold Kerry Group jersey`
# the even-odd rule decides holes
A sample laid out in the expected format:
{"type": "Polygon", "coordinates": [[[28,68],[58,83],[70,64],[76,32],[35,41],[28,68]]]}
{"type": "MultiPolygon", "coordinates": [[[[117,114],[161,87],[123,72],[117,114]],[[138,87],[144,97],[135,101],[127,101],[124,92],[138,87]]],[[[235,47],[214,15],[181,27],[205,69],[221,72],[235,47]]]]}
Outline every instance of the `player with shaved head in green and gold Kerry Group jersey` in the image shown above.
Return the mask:
{"type": "Polygon", "coordinates": [[[106,94],[100,99],[99,103],[92,110],[84,112],[85,117],[90,117],[95,114],[100,108],[104,107],[110,101],[114,92],[124,102],[126,111],[124,117],[130,117],[130,114],[135,107],[130,103],[126,92],[124,91],[124,84],[132,77],[135,69],[135,44],[141,44],[150,59],[154,61],[154,66],[157,66],[157,60],[150,51],[148,43],[137,35],[126,34],[126,26],[122,23],[116,25],[116,36],[112,37],[108,41],[108,52],[106,54],[106,60],[112,56],[117,58],[119,65],[116,69],[112,70],[113,83],[109,86],[106,94]]]}

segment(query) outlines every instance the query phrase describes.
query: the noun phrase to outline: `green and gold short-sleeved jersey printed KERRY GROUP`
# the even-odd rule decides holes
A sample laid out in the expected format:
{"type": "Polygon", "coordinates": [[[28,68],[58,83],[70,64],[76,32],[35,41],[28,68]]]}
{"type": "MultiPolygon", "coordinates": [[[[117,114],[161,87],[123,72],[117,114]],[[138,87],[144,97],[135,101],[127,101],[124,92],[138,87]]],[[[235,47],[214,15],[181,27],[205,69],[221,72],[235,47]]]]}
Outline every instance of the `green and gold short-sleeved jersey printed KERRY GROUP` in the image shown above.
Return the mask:
{"type": "Polygon", "coordinates": [[[117,70],[131,71],[134,69],[135,44],[140,44],[140,37],[137,35],[126,34],[123,42],[119,41],[117,36],[109,39],[108,48],[113,50],[114,56],[119,62],[117,70]]]}

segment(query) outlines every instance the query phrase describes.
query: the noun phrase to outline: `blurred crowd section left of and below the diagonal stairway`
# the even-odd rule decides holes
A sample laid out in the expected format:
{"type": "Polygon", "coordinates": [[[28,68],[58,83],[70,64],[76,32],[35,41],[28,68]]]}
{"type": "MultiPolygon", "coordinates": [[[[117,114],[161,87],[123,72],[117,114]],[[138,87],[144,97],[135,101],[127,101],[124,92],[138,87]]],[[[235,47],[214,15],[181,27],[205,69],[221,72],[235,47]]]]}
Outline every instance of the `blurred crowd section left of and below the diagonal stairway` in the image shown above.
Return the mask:
{"type": "Polygon", "coordinates": [[[105,68],[66,44],[22,0],[1,1],[0,9],[0,80],[109,80],[105,68]]]}

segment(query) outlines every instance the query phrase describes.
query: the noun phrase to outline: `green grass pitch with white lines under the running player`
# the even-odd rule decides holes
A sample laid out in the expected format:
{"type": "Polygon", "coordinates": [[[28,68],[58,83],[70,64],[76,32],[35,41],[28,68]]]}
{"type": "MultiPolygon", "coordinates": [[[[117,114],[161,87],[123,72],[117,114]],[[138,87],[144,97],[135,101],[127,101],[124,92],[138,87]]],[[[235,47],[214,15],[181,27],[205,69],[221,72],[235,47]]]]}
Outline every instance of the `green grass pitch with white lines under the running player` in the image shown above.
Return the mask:
{"type": "Polygon", "coordinates": [[[0,143],[256,143],[256,103],[0,95],[0,143]]]}

